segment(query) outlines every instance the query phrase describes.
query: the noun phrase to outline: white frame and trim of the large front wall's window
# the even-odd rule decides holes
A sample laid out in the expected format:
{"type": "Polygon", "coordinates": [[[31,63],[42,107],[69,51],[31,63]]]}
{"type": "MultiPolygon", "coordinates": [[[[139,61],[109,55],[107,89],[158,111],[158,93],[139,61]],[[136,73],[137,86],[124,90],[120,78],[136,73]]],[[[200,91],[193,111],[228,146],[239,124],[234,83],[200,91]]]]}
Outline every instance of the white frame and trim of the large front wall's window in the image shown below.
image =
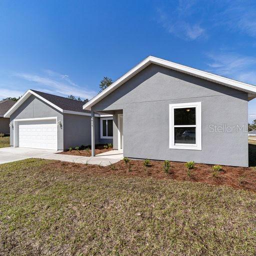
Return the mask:
{"type": "Polygon", "coordinates": [[[202,115],[201,115],[201,102],[188,102],[169,104],[169,148],[171,149],[191,149],[202,150],[202,115]],[[180,127],[196,127],[195,144],[185,144],[174,142],[174,109],[195,107],[195,125],[177,125],[180,127]]]}

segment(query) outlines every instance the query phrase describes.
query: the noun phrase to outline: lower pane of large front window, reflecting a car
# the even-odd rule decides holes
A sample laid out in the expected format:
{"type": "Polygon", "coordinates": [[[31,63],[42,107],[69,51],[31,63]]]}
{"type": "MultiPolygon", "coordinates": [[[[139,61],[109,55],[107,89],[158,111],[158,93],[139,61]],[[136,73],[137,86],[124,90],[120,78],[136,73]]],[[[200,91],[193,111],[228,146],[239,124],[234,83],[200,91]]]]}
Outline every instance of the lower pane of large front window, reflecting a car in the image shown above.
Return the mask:
{"type": "Polygon", "coordinates": [[[195,144],[195,127],[174,127],[174,143],[195,144]]]}

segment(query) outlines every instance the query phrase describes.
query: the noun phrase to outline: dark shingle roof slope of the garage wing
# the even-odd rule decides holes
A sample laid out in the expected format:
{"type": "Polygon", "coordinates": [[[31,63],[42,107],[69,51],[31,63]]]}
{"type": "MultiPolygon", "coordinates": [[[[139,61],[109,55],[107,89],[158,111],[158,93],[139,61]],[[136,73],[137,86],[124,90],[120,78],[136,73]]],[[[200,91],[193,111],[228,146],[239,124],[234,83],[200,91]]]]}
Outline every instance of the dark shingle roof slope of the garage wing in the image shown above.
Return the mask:
{"type": "Polygon", "coordinates": [[[50,101],[54,105],[62,108],[63,110],[90,113],[90,111],[82,109],[82,105],[84,104],[83,101],[70,99],[70,98],[65,98],[65,97],[61,97],[61,96],[41,92],[41,91],[38,91],[38,90],[32,90],[32,91],[37,93],[38,95],[42,96],[43,98],[47,99],[48,101],[50,101]]]}

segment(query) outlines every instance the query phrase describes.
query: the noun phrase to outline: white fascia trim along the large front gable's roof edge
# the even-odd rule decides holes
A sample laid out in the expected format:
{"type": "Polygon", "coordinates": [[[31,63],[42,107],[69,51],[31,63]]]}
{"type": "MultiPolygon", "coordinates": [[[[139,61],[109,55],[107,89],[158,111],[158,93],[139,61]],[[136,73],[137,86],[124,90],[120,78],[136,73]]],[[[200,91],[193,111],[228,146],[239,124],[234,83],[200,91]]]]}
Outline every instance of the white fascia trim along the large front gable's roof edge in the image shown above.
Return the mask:
{"type": "Polygon", "coordinates": [[[131,77],[133,77],[135,74],[140,72],[142,69],[147,67],[149,64],[156,64],[160,66],[164,66],[173,70],[177,70],[179,72],[183,72],[186,74],[190,74],[205,80],[209,80],[215,83],[219,83],[237,90],[241,90],[248,93],[248,100],[256,97],[256,86],[240,81],[236,81],[233,79],[229,79],[220,75],[212,74],[209,72],[205,72],[202,70],[198,70],[189,66],[184,66],[181,64],[177,64],[165,59],[157,58],[154,56],[148,56],[144,60],[142,60],[139,64],[137,64],[135,67],[133,67],[131,70],[129,70],[126,74],[121,76],[119,79],[117,79],[115,82],[113,82],[111,85],[109,85],[106,89],[101,91],[99,94],[97,94],[95,97],[93,97],[90,101],[85,103],[83,105],[83,109],[90,110],[91,106],[99,102],[102,98],[107,96],[109,93],[111,93],[113,90],[118,88],[120,85],[122,85],[124,82],[129,80],[131,77]]]}

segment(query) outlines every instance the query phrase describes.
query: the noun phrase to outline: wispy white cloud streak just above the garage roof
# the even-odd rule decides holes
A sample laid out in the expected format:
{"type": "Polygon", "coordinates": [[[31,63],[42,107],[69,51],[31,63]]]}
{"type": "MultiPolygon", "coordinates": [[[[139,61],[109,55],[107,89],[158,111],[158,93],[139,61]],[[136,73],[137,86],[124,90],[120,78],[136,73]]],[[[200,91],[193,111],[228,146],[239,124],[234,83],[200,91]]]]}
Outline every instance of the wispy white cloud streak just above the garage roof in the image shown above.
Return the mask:
{"type": "MultiPolygon", "coordinates": [[[[49,69],[44,70],[44,72],[46,73],[46,76],[30,73],[13,73],[13,75],[30,82],[35,82],[38,85],[43,85],[43,89],[41,89],[40,86],[40,90],[45,92],[56,93],[65,96],[72,94],[76,97],[79,96],[82,98],[91,98],[96,94],[95,91],[86,90],[85,88],[75,84],[73,81],[71,81],[68,75],[62,75],[49,69]]],[[[34,88],[34,85],[32,88],[34,88]]]]}

